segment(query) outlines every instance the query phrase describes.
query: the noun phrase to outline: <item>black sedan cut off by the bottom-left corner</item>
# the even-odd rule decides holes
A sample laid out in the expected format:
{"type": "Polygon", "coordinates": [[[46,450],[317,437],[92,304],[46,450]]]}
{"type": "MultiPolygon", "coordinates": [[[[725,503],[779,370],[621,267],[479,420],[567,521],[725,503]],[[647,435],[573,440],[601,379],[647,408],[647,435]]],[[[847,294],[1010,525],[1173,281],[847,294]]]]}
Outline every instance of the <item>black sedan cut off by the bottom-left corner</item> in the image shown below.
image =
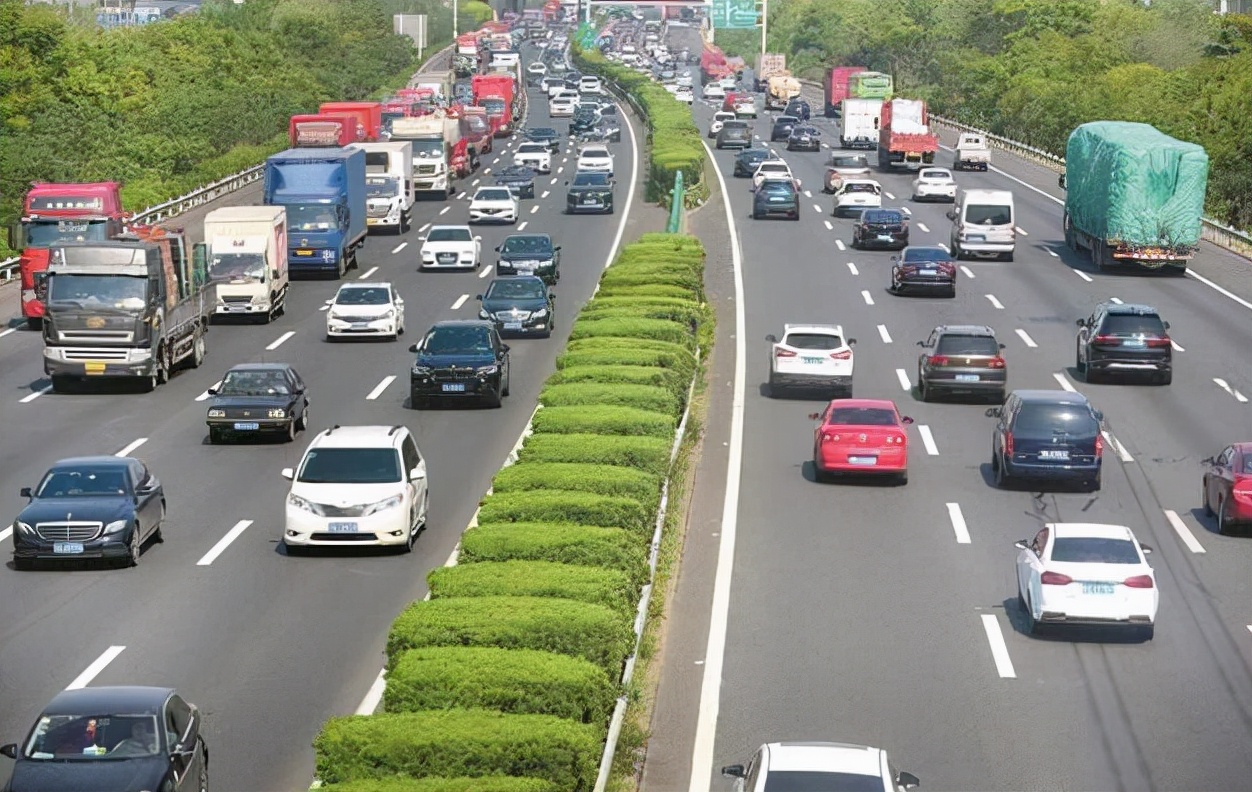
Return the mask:
{"type": "Polygon", "coordinates": [[[20,746],[5,789],[20,792],[203,792],[209,749],[203,716],[177,691],[85,687],[61,691],[20,746]]]}

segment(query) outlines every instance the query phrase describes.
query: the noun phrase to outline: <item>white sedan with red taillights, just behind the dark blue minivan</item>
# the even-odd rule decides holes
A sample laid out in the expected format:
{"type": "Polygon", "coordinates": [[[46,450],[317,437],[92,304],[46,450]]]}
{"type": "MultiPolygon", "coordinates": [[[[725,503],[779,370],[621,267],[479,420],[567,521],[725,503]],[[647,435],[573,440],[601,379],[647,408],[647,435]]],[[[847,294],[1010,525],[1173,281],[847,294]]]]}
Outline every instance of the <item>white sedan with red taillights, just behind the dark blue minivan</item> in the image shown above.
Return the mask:
{"type": "Polygon", "coordinates": [[[1156,629],[1161,596],[1141,544],[1126,525],[1048,523],[1014,547],[1027,629],[1040,624],[1118,624],[1156,629]]]}

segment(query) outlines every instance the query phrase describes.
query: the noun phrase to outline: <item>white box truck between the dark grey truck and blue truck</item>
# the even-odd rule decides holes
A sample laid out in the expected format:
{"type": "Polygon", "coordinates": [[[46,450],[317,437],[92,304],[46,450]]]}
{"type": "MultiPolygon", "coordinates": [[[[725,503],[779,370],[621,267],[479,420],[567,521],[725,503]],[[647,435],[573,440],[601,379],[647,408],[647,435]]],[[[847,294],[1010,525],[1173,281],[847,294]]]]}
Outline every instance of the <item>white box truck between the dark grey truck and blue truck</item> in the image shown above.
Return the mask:
{"type": "Polygon", "coordinates": [[[263,323],[287,308],[287,209],[224,206],[204,215],[209,283],[215,287],[214,315],[249,317],[263,323]]]}

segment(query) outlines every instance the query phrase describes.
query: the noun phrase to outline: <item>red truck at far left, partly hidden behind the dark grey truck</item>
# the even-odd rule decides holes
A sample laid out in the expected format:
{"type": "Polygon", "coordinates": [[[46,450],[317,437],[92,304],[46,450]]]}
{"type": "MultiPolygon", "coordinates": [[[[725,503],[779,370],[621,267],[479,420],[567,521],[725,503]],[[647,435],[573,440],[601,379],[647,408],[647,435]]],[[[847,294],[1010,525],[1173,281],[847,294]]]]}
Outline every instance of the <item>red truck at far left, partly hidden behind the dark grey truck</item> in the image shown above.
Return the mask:
{"type": "Polygon", "coordinates": [[[21,204],[21,221],[9,229],[9,246],[21,250],[21,315],[35,330],[44,322],[49,250],[65,241],[114,239],[125,228],[121,184],[44,184],[35,181],[21,204]]]}

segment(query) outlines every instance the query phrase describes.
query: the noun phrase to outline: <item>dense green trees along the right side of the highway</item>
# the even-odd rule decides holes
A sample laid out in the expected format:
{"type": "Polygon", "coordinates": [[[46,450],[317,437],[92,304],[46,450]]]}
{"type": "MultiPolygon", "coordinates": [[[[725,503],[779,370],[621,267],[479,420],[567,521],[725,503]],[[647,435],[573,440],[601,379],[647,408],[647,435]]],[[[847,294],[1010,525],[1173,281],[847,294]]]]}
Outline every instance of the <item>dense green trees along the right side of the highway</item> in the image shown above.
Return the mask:
{"type": "MultiPolygon", "coordinates": [[[[1085,121],[1143,121],[1203,145],[1209,214],[1252,226],[1252,18],[1206,0],[774,0],[793,71],[863,65],[934,113],[1063,156],[1085,121]]],[[[760,36],[717,34],[751,56],[760,36]]]]}

